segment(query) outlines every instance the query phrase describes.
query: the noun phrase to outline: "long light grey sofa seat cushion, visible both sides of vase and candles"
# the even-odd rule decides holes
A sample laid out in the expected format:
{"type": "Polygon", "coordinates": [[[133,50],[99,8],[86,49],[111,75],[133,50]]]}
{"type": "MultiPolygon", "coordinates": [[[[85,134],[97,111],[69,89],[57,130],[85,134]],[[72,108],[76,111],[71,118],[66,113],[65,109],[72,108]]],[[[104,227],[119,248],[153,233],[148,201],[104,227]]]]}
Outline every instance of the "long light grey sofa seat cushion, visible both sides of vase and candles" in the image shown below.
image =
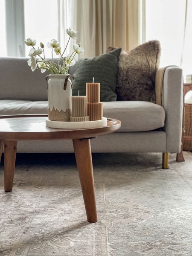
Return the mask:
{"type": "MultiPolygon", "coordinates": [[[[0,100],[0,115],[47,113],[47,101],[0,100]]],[[[119,119],[118,131],[151,131],[164,126],[163,107],[144,101],[103,102],[103,115],[119,119]]]]}

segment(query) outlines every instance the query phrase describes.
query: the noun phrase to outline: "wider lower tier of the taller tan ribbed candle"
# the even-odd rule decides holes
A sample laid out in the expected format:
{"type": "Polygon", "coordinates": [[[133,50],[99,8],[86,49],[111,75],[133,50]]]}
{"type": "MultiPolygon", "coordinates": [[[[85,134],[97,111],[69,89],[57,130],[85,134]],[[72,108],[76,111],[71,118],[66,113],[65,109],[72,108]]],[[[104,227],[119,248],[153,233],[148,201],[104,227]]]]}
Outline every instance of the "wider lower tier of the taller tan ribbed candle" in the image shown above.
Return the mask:
{"type": "Polygon", "coordinates": [[[87,114],[89,116],[89,121],[102,120],[103,118],[103,103],[87,102],[87,114]]]}

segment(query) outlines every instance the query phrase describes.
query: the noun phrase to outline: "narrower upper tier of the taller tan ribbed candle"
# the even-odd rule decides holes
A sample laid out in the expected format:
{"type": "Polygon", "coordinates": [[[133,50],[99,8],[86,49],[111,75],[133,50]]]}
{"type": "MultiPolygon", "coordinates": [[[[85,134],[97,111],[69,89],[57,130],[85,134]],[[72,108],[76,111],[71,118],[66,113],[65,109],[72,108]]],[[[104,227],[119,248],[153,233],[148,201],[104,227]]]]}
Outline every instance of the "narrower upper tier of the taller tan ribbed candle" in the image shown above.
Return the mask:
{"type": "Polygon", "coordinates": [[[87,102],[100,102],[100,83],[86,83],[87,102]]]}

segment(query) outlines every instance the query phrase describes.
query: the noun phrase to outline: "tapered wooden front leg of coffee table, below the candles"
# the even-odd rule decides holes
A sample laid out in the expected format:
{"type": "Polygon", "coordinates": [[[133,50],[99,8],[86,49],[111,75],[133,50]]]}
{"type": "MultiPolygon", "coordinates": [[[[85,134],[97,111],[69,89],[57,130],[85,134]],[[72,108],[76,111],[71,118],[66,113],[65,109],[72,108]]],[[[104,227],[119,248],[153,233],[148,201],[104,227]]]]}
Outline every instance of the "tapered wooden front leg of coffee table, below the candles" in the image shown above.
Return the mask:
{"type": "Polygon", "coordinates": [[[79,169],[79,178],[83,192],[87,221],[97,222],[90,140],[73,140],[73,148],[75,151],[77,167],[79,169]]]}

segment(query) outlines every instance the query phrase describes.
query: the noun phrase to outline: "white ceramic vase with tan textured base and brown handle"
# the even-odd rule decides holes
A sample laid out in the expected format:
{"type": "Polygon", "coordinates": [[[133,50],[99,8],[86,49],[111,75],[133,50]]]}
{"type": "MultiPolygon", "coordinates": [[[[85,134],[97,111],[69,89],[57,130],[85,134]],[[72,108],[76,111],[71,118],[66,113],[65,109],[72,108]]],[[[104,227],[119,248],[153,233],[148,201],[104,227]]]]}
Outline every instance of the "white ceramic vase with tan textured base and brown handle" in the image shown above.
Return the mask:
{"type": "Polygon", "coordinates": [[[70,121],[73,76],[51,74],[48,81],[48,118],[70,121]]]}

